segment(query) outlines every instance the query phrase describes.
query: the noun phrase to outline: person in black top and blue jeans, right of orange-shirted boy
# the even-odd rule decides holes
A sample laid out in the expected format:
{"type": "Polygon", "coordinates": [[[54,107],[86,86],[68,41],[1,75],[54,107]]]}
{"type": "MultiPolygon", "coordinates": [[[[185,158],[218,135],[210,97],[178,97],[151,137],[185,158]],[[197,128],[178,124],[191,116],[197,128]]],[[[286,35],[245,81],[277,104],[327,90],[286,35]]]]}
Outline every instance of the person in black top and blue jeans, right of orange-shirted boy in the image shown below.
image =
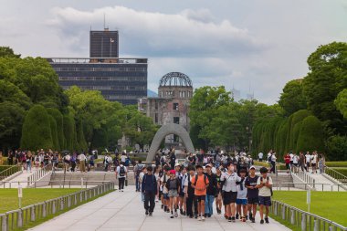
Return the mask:
{"type": "Polygon", "coordinates": [[[216,189],[217,189],[217,180],[216,180],[216,174],[212,173],[211,171],[211,163],[206,164],[205,166],[205,175],[208,178],[208,184],[207,190],[206,190],[206,199],[205,199],[205,216],[211,217],[213,215],[213,205],[214,200],[216,196],[216,189]]]}

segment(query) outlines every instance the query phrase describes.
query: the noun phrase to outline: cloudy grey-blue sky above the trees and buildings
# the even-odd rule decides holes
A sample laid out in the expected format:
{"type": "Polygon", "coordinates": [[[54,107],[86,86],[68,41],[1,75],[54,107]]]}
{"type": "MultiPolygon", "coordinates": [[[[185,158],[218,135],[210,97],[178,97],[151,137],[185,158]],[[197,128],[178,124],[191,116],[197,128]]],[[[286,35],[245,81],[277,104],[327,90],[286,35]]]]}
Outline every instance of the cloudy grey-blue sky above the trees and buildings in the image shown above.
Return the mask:
{"type": "Polygon", "coordinates": [[[89,57],[89,30],[119,30],[121,58],[274,104],[317,47],[347,40],[347,0],[0,0],[0,46],[22,57],[89,57]]]}

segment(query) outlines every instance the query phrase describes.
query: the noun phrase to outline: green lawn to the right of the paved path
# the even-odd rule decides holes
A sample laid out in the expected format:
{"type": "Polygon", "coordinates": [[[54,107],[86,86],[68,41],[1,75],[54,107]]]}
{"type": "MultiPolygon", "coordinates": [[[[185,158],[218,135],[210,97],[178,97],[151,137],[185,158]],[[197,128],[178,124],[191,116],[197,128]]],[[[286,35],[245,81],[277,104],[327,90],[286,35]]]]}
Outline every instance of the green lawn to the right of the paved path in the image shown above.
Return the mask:
{"type": "MultiPolygon", "coordinates": [[[[274,200],[308,210],[306,192],[275,191],[274,200]]],[[[342,226],[347,226],[347,192],[311,192],[310,213],[330,219],[342,226]]]]}

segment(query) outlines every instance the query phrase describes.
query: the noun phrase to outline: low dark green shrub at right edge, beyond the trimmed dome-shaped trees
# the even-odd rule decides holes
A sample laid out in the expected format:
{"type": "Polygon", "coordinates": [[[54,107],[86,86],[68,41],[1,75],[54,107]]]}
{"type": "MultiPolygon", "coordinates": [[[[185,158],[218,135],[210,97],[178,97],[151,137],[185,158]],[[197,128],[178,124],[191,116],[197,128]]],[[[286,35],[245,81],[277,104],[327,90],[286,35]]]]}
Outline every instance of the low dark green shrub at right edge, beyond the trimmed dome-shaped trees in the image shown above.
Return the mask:
{"type": "Polygon", "coordinates": [[[326,142],[326,147],[330,161],[347,160],[347,136],[331,136],[326,142]]]}

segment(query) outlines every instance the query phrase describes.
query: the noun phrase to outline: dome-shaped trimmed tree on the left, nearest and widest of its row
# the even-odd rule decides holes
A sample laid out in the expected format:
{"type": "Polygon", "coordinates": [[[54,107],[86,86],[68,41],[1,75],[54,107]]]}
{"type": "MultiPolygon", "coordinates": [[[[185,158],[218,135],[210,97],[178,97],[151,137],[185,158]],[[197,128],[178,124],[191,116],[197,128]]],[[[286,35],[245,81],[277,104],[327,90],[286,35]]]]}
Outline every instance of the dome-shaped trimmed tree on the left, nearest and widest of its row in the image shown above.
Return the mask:
{"type": "Polygon", "coordinates": [[[53,147],[47,110],[34,105],[27,113],[22,128],[21,148],[37,151],[53,147]]]}

